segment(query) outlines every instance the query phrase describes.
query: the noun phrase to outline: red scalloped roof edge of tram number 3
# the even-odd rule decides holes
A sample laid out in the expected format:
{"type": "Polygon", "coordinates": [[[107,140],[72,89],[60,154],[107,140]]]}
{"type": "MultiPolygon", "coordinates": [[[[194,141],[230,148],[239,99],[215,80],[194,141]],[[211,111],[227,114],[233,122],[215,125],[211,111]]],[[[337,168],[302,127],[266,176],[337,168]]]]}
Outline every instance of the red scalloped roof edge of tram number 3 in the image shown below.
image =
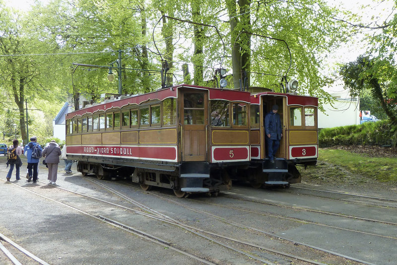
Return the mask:
{"type": "Polygon", "coordinates": [[[262,96],[281,96],[287,98],[287,105],[301,105],[301,106],[319,106],[319,100],[317,97],[303,96],[289,93],[278,93],[278,92],[260,92],[251,94],[251,104],[260,104],[260,98],[262,96]]]}

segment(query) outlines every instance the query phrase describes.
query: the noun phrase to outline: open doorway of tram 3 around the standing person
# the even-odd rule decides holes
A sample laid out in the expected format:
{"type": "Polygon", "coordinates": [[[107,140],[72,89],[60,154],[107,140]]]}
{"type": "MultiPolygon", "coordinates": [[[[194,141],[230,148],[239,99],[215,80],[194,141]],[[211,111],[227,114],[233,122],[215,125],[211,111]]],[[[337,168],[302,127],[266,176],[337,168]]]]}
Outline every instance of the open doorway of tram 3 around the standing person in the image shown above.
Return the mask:
{"type": "Polygon", "coordinates": [[[278,147],[276,157],[279,158],[286,158],[286,126],[285,126],[285,119],[286,119],[286,110],[284,110],[284,98],[283,97],[277,97],[277,96],[264,96],[263,101],[262,101],[262,106],[263,106],[263,133],[264,133],[264,141],[263,141],[263,146],[265,146],[265,154],[264,156],[267,156],[267,146],[266,146],[266,134],[265,134],[265,117],[266,114],[271,112],[271,107],[273,105],[278,106],[278,114],[280,115],[280,120],[281,120],[281,127],[283,131],[282,138],[280,140],[280,146],[278,147]]]}

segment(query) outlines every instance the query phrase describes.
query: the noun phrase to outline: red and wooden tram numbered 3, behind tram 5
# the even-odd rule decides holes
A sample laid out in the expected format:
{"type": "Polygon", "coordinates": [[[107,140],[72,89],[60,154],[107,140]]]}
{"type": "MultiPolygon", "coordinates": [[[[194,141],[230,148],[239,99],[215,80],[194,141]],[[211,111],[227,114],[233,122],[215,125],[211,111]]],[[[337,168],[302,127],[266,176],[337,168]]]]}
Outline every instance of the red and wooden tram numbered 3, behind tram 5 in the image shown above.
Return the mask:
{"type": "Polygon", "coordinates": [[[250,88],[250,148],[249,174],[233,174],[237,179],[249,181],[253,187],[300,183],[296,166],[315,165],[318,158],[318,98],[296,93],[276,93],[262,88],[250,88]],[[257,92],[255,92],[257,91],[257,92]],[[271,162],[266,158],[265,115],[273,105],[278,106],[282,125],[282,138],[271,162]]]}

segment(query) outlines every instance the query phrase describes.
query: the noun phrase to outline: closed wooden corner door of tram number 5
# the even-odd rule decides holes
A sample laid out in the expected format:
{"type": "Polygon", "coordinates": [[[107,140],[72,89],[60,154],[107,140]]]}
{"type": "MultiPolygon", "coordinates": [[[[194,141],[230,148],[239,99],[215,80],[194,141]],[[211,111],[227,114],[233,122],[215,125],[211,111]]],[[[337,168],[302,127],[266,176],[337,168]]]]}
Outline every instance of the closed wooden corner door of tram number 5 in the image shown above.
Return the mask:
{"type": "Polygon", "coordinates": [[[207,93],[184,91],[182,102],[182,160],[206,161],[207,93]]]}

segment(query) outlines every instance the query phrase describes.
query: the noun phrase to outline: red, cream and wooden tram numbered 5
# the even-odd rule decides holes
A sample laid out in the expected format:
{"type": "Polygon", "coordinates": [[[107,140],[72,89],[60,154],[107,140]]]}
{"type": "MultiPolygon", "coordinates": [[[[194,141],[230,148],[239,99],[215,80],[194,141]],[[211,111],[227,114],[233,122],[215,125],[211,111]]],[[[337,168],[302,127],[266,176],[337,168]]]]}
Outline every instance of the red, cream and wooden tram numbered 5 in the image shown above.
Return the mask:
{"type": "MultiPolygon", "coordinates": [[[[66,152],[83,175],[217,193],[250,163],[250,93],[178,85],[113,97],[66,115],[66,152]]],[[[251,134],[253,134],[251,132],[251,134]]]]}

